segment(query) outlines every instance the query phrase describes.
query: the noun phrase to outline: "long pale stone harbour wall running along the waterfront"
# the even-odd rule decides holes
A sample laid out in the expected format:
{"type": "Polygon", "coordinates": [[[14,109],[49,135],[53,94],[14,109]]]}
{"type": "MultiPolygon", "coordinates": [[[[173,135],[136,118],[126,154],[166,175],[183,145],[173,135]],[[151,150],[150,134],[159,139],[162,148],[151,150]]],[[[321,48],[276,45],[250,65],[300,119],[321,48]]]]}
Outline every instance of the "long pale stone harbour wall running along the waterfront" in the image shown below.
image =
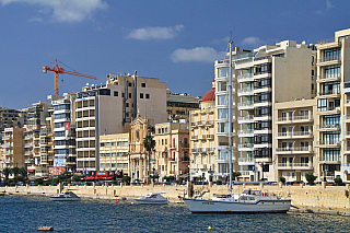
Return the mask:
{"type": "MultiPolygon", "coordinates": [[[[180,202],[179,197],[188,197],[192,190],[194,197],[208,199],[215,194],[228,194],[225,185],[141,185],[141,186],[15,186],[0,187],[0,193],[8,195],[43,195],[52,196],[61,189],[70,189],[82,198],[101,199],[133,199],[145,196],[149,193],[162,193],[170,201],[180,202]]],[[[347,186],[250,186],[234,185],[232,193],[240,195],[244,189],[261,189],[269,195],[278,195],[281,198],[291,199],[292,205],[306,209],[324,209],[350,211],[350,188],[347,186]]]]}

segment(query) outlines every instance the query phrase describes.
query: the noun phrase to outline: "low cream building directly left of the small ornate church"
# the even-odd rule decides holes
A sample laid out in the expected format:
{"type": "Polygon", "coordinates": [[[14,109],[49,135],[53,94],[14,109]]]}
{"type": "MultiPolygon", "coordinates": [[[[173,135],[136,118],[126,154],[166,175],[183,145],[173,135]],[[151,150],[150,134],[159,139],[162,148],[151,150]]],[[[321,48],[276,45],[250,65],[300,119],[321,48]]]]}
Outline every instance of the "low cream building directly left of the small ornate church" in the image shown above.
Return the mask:
{"type": "Polygon", "coordinates": [[[100,171],[115,171],[129,175],[129,133],[100,137],[100,171]]]}

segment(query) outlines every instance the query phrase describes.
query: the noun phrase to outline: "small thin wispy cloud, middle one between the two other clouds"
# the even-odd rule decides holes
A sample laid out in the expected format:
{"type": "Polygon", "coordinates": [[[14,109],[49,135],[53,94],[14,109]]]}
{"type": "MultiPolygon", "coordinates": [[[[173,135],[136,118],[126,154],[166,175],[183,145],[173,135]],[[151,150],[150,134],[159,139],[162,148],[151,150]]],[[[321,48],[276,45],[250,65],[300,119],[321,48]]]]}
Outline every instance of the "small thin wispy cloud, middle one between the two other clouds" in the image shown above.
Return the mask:
{"type": "Polygon", "coordinates": [[[175,25],[170,27],[161,27],[161,26],[149,26],[149,27],[142,27],[132,30],[129,35],[127,35],[127,38],[133,38],[133,39],[171,39],[174,38],[176,33],[183,31],[185,28],[184,25],[175,25]]]}

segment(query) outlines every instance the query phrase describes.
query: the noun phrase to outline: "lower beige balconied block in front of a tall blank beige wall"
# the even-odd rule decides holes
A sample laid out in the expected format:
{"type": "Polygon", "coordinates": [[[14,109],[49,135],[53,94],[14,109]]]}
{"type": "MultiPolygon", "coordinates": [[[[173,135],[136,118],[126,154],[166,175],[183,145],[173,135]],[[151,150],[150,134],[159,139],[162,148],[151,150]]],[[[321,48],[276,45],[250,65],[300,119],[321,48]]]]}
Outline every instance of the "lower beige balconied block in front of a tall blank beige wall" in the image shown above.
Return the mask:
{"type": "MultiPolygon", "coordinates": [[[[317,101],[300,100],[275,103],[273,148],[275,178],[287,182],[305,180],[305,173],[317,171],[315,150],[317,101]]],[[[271,179],[272,180],[272,179],[271,179]]]]}

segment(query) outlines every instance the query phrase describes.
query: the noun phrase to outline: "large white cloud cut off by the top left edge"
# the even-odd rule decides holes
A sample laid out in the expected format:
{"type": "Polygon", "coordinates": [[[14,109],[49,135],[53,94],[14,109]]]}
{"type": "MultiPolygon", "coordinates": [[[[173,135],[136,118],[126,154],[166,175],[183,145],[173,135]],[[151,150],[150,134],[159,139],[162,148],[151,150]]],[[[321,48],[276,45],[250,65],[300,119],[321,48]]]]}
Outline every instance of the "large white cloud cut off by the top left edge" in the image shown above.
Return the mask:
{"type": "MultiPolygon", "coordinates": [[[[50,14],[51,20],[56,22],[81,22],[91,19],[94,11],[107,8],[103,0],[0,0],[2,5],[14,2],[38,5],[40,14],[50,14]]],[[[32,21],[38,19],[42,20],[40,16],[34,16],[32,21]]]]}

